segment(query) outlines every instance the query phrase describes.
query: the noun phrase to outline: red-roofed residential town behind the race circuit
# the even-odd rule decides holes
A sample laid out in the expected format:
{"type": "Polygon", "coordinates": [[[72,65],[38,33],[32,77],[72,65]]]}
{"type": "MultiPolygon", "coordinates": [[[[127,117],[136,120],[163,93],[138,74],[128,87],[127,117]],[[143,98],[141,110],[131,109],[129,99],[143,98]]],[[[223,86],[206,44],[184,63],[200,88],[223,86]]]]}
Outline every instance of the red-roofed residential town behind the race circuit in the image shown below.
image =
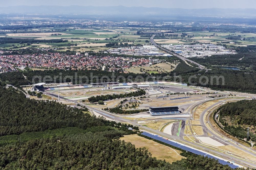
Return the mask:
{"type": "MultiPolygon", "coordinates": [[[[1,55],[0,72],[16,71],[29,68],[52,69],[102,69],[106,71],[121,71],[134,66],[150,66],[152,63],[161,62],[159,59],[114,57],[111,55],[92,56],[86,53],[81,55],[66,55],[62,53],[47,53],[33,55],[1,55]]],[[[125,71],[124,71],[125,72],[125,71]]]]}

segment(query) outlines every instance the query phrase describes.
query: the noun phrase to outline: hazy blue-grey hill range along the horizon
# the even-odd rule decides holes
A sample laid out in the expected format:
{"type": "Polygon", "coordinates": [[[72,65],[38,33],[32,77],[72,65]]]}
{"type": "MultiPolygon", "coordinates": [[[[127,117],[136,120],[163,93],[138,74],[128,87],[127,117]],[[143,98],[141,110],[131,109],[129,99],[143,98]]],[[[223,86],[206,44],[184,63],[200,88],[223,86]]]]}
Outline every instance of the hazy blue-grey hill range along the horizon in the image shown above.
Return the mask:
{"type": "Polygon", "coordinates": [[[125,7],[125,6],[9,6],[1,9],[1,13],[24,14],[76,14],[76,15],[181,15],[181,16],[225,16],[255,17],[256,9],[182,9],[158,7],[125,7]]]}

